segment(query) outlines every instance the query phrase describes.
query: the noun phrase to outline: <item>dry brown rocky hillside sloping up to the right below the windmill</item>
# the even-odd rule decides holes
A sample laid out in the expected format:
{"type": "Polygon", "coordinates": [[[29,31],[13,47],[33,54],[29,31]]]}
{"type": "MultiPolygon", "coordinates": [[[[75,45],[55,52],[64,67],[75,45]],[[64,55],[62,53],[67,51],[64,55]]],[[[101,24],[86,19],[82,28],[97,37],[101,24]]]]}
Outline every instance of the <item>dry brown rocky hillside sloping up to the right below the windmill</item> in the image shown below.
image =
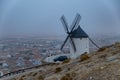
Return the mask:
{"type": "Polygon", "coordinates": [[[1,80],[120,80],[120,43],[1,80]]]}

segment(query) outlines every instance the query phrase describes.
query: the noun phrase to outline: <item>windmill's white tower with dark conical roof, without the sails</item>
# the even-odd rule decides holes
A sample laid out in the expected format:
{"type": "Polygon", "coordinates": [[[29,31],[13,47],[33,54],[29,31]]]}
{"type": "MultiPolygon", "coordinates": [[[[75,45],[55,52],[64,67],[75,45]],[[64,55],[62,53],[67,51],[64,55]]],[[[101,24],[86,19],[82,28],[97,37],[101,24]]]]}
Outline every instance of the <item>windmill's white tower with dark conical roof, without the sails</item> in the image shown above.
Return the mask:
{"type": "Polygon", "coordinates": [[[75,44],[76,51],[70,44],[70,57],[77,58],[81,54],[89,53],[89,38],[88,35],[81,29],[80,26],[71,33],[70,36],[75,44]]]}

